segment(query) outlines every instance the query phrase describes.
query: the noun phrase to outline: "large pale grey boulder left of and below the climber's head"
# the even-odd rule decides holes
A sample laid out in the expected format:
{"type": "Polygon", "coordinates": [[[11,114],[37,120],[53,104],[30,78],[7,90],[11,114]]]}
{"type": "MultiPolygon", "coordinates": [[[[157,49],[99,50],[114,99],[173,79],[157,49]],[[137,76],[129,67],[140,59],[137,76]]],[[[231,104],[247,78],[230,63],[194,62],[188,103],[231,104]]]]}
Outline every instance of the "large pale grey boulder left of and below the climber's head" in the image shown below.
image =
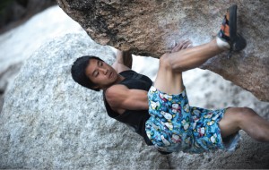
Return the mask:
{"type": "Polygon", "coordinates": [[[22,66],[4,98],[0,168],[168,168],[161,164],[165,157],[108,118],[101,93],[72,80],[71,65],[81,55],[108,64],[114,59],[110,47],[85,33],[67,34],[45,43],[22,66]]]}

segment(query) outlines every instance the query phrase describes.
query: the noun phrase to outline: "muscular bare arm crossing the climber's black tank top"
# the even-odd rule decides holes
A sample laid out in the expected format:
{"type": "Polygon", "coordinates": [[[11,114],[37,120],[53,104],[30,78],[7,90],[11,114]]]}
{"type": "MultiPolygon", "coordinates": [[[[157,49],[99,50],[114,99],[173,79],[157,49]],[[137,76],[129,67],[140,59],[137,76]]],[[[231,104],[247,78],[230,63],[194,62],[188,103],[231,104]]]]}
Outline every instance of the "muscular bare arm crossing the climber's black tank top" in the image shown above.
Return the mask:
{"type": "Polygon", "coordinates": [[[147,91],[128,89],[124,85],[115,85],[106,90],[106,99],[113,110],[147,110],[147,91]]]}

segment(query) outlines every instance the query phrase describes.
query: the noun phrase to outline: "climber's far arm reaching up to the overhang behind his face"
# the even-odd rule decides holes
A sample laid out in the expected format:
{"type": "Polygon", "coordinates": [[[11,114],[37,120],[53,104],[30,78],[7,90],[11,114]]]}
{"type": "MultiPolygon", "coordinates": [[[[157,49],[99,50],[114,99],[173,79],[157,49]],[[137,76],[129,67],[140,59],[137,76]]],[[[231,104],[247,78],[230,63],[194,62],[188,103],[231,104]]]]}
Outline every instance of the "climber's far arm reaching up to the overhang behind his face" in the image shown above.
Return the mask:
{"type": "Polygon", "coordinates": [[[133,64],[133,57],[128,51],[119,51],[117,50],[117,57],[112,67],[119,72],[130,70],[133,64]]]}

